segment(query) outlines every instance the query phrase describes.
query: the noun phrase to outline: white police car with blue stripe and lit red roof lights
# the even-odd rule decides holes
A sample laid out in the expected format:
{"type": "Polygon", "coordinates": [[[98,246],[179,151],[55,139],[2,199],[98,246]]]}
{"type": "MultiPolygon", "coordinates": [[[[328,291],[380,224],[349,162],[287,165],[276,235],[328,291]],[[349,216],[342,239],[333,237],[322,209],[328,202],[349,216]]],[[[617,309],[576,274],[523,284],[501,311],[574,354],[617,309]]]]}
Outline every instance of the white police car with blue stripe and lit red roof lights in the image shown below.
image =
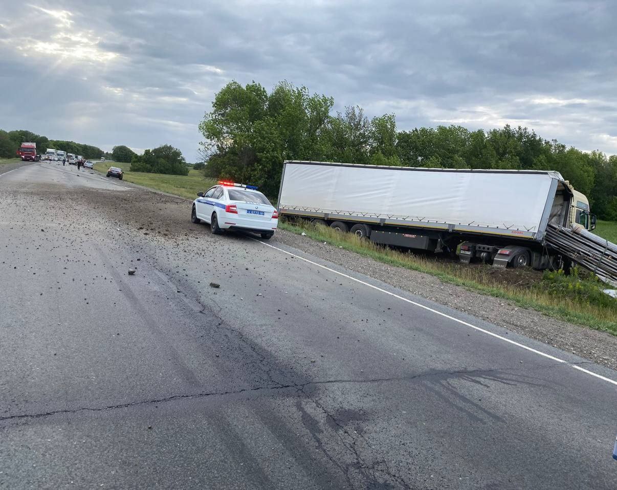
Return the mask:
{"type": "Polygon", "coordinates": [[[212,233],[244,230],[268,239],[278,225],[278,212],[257,187],[219,181],[193,201],[191,221],[210,223],[212,233]]]}

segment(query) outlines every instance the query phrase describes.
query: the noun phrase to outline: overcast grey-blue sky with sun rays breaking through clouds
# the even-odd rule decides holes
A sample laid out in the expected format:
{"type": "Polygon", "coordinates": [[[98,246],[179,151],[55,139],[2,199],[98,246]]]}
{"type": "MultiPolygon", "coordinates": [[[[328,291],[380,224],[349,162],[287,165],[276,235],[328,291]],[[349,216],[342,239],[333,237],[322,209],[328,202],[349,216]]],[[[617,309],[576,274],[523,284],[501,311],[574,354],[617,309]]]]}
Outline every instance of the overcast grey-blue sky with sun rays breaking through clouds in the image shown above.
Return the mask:
{"type": "Polygon", "coordinates": [[[617,154],[617,1],[0,0],[0,128],[172,144],[230,80],[617,154]],[[173,6],[177,4],[178,6],[173,6]]]}

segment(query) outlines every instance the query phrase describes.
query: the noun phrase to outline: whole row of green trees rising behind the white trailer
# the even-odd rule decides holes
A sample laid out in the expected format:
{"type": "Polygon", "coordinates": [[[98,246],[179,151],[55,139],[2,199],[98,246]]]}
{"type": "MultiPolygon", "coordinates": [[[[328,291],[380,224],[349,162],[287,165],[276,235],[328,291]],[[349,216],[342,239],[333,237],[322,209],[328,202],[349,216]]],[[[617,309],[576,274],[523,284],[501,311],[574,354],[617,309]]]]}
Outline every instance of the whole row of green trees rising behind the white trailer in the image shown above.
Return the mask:
{"type": "Polygon", "coordinates": [[[567,147],[528,128],[399,131],[394,114],[369,118],[359,106],[333,114],[333,107],[333,98],[286,81],[270,93],[259,83],[231,81],[199,124],[204,175],[252,183],[276,196],[283,160],[557,170],[586,194],[599,218],[617,220],[617,156],[567,147]]]}

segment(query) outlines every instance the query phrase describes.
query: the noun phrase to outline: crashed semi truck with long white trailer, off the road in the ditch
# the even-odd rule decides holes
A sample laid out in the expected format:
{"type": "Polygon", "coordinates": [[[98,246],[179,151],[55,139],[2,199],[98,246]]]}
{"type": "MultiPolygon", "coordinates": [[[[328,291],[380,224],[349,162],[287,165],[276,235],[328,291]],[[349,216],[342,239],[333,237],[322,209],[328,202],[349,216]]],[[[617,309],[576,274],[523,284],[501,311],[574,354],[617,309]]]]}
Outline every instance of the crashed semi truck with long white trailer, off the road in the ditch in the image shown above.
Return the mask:
{"type": "Polygon", "coordinates": [[[286,161],[278,212],[381,244],[506,267],[562,267],[547,226],[595,228],[589,201],[558,172],[286,161]]]}

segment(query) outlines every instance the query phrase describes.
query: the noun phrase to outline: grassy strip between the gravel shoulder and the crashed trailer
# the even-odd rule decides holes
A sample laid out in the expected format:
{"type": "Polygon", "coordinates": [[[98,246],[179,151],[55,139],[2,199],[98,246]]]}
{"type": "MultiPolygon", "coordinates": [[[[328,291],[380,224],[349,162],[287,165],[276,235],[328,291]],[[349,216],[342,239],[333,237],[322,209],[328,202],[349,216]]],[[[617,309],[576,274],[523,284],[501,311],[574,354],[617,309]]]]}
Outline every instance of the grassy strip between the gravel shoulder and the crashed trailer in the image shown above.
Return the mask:
{"type": "MultiPolygon", "coordinates": [[[[617,335],[617,300],[602,292],[602,283],[594,276],[576,271],[571,276],[561,272],[545,272],[525,284],[508,283],[503,274],[495,275],[490,265],[462,265],[443,262],[411,252],[400,252],[376,245],[350,233],[339,233],[332,228],[310,223],[279,223],[279,228],[302,233],[310,238],[326,241],[384,264],[404,267],[437,276],[444,282],[465,286],[480,293],[507,299],[524,308],[532,308],[578,325],[617,335]]],[[[514,273],[507,270],[506,273],[514,273]]]]}

